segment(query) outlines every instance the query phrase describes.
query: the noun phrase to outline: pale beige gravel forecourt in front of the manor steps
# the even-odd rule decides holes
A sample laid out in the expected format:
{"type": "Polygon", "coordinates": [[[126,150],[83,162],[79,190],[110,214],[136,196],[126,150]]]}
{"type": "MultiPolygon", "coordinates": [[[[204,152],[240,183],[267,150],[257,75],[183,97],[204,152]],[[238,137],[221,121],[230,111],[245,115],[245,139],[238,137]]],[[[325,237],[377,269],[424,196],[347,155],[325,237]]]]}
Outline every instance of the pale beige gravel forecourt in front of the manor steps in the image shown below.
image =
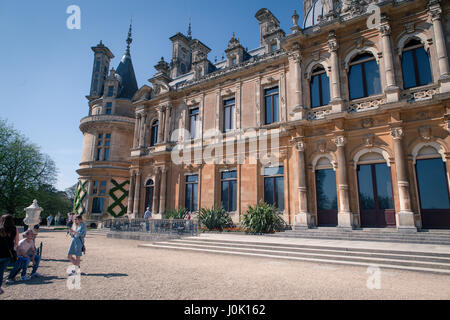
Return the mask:
{"type": "Polygon", "coordinates": [[[70,238],[52,231],[39,241],[44,277],[4,285],[0,299],[450,299],[444,275],[382,270],[381,289],[369,290],[363,267],[137,248],[97,234],[86,239],[81,289],[69,290],[70,238]]]}

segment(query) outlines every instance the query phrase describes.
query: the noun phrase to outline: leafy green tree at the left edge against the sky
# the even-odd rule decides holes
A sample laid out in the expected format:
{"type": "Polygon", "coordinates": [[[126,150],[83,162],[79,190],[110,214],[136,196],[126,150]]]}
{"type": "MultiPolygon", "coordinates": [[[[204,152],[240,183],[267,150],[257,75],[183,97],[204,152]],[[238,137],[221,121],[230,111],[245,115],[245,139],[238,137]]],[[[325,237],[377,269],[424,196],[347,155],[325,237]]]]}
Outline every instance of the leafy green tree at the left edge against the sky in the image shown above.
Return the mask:
{"type": "Polygon", "coordinates": [[[26,137],[0,119],[0,212],[16,217],[56,181],[55,163],[26,137]]]}

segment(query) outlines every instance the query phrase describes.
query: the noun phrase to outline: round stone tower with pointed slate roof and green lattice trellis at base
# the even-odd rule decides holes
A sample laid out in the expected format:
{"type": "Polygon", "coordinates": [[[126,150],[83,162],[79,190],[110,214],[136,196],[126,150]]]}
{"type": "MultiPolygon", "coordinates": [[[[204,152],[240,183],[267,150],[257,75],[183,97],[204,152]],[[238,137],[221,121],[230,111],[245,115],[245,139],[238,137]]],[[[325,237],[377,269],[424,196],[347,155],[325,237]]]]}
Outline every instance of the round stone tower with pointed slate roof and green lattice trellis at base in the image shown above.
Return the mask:
{"type": "Polygon", "coordinates": [[[101,42],[92,48],[89,114],[80,123],[84,139],[74,200],[74,212],[92,222],[127,213],[135,126],[132,98],[138,90],[130,55],[132,41],[130,25],[126,52],[109,74],[105,70],[113,54],[101,42]]]}

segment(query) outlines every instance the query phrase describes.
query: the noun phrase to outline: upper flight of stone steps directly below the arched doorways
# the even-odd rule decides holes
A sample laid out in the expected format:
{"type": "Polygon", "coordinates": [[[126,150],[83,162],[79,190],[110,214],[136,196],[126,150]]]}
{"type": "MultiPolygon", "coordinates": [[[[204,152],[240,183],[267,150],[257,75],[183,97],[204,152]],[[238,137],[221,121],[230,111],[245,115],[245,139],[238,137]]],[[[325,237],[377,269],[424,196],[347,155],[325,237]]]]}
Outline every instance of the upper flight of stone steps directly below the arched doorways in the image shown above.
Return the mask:
{"type": "Polygon", "coordinates": [[[415,233],[401,233],[396,229],[343,231],[337,228],[317,228],[289,230],[270,235],[269,237],[450,245],[450,230],[422,230],[415,233]]]}

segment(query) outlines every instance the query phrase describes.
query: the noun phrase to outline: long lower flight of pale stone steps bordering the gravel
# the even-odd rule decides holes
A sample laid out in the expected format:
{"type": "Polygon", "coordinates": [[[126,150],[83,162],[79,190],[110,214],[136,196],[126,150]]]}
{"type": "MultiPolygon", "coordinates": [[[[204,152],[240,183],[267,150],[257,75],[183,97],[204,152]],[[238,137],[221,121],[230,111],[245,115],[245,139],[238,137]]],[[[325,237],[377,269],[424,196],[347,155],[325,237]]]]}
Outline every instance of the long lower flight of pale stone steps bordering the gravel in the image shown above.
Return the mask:
{"type": "Polygon", "coordinates": [[[332,263],[341,265],[357,265],[357,266],[377,266],[380,268],[402,269],[410,271],[431,272],[439,274],[450,275],[450,263],[448,257],[439,258],[440,262],[426,261],[426,258],[407,256],[410,260],[405,259],[405,255],[391,256],[389,258],[382,257],[368,257],[362,254],[357,256],[346,256],[342,252],[323,251],[321,253],[302,253],[300,251],[293,251],[291,249],[280,250],[277,246],[272,244],[265,244],[259,248],[236,248],[228,244],[219,245],[211,242],[210,244],[192,243],[191,241],[167,241],[156,242],[153,244],[143,244],[139,247],[152,249],[166,249],[179,251],[192,251],[214,254],[239,255],[249,257],[264,257],[272,259],[308,261],[317,263],[332,263]],[[419,260],[414,260],[419,259],[419,260]]]}

